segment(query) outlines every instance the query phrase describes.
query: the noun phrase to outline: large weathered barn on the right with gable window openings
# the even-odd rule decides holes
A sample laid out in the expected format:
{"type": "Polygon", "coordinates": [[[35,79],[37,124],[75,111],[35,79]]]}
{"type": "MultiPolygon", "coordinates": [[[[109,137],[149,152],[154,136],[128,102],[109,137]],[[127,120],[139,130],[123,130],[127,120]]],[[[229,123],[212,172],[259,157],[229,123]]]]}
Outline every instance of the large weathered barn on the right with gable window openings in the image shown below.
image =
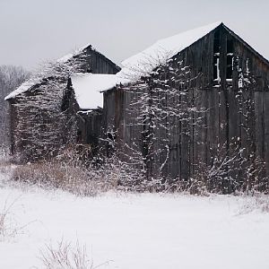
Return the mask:
{"type": "Polygon", "coordinates": [[[104,92],[103,125],[127,155],[142,153],[147,178],[268,189],[269,63],[247,42],[217,22],[123,65],[129,84],[104,92]]]}

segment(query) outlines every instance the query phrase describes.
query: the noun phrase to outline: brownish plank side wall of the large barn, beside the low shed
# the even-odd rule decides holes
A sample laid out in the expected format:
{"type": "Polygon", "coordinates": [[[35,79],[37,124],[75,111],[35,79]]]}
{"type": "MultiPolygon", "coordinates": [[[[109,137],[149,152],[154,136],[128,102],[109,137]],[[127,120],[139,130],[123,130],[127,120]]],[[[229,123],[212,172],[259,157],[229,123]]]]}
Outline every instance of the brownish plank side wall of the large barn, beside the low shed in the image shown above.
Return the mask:
{"type": "Polygon", "coordinates": [[[143,128],[137,125],[138,111],[131,105],[137,98],[139,96],[135,91],[120,87],[104,92],[102,138],[108,142],[102,143],[102,149],[107,156],[115,152],[109,138],[109,134],[113,134],[113,143],[120,159],[133,163],[134,168],[142,169],[139,154],[143,151],[143,128]]]}

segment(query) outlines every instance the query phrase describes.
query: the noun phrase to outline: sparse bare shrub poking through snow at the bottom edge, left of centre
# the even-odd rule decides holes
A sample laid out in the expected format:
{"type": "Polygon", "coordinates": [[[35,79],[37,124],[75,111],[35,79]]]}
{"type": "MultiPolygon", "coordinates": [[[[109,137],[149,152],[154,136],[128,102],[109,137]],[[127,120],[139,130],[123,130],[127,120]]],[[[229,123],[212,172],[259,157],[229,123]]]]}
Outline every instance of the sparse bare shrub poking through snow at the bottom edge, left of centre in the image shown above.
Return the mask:
{"type": "Polygon", "coordinates": [[[46,269],[95,269],[101,265],[94,265],[92,259],[87,255],[86,247],[76,242],[75,247],[63,239],[56,247],[47,245],[40,251],[40,259],[46,269]]]}

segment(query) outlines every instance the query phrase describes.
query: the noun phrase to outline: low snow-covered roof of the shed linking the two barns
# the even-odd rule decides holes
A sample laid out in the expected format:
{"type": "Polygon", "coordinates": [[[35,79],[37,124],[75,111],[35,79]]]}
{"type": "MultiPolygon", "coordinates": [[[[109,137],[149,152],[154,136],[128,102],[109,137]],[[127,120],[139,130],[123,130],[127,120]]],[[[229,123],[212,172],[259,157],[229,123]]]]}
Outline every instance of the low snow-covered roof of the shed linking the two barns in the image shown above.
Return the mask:
{"type": "Polygon", "coordinates": [[[100,91],[112,89],[117,84],[115,74],[74,74],[71,76],[75,99],[81,109],[103,107],[100,91]]]}

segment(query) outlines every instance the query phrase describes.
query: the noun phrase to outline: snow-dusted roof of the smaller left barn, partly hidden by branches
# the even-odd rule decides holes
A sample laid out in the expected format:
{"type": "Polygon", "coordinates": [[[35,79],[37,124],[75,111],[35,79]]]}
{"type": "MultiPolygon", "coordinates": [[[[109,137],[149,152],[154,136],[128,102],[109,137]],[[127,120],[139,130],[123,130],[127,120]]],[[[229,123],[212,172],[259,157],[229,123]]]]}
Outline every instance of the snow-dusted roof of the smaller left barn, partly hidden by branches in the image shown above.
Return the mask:
{"type": "MultiPolygon", "coordinates": [[[[106,58],[106,60],[111,64],[111,65],[115,65],[116,69],[120,70],[120,67],[117,66],[115,63],[113,63],[111,60],[109,60],[106,56],[104,56],[103,54],[101,54],[96,48],[93,48],[91,46],[91,44],[87,44],[85,46],[83,46],[82,48],[76,49],[74,51],[74,53],[69,53],[63,57],[60,57],[59,59],[56,60],[56,63],[59,64],[65,64],[66,62],[68,62],[69,60],[71,60],[72,58],[76,57],[76,56],[80,56],[82,55],[83,52],[85,52],[86,49],[90,48],[91,50],[95,51],[96,53],[98,53],[100,56],[106,58]]],[[[10,94],[8,94],[4,100],[10,100],[13,99],[14,97],[16,97],[17,95],[26,92],[26,91],[30,91],[30,89],[32,89],[35,85],[39,84],[40,82],[42,82],[45,78],[44,77],[38,77],[38,78],[30,78],[30,80],[23,82],[21,86],[19,86],[16,90],[12,91],[10,94]]]]}

